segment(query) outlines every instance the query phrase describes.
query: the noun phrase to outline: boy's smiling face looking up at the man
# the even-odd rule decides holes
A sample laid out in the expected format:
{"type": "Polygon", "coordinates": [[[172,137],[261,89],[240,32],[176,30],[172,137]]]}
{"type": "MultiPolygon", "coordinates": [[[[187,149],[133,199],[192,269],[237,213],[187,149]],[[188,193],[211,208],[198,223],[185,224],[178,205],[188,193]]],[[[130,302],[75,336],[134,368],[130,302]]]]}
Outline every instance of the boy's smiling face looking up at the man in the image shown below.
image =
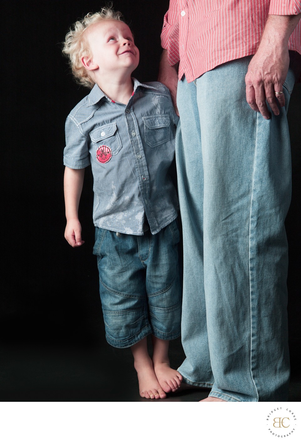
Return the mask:
{"type": "Polygon", "coordinates": [[[87,38],[91,62],[98,66],[100,75],[112,75],[116,70],[130,75],[138,66],[139,50],[125,23],[109,19],[94,23],[87,38]]]}

